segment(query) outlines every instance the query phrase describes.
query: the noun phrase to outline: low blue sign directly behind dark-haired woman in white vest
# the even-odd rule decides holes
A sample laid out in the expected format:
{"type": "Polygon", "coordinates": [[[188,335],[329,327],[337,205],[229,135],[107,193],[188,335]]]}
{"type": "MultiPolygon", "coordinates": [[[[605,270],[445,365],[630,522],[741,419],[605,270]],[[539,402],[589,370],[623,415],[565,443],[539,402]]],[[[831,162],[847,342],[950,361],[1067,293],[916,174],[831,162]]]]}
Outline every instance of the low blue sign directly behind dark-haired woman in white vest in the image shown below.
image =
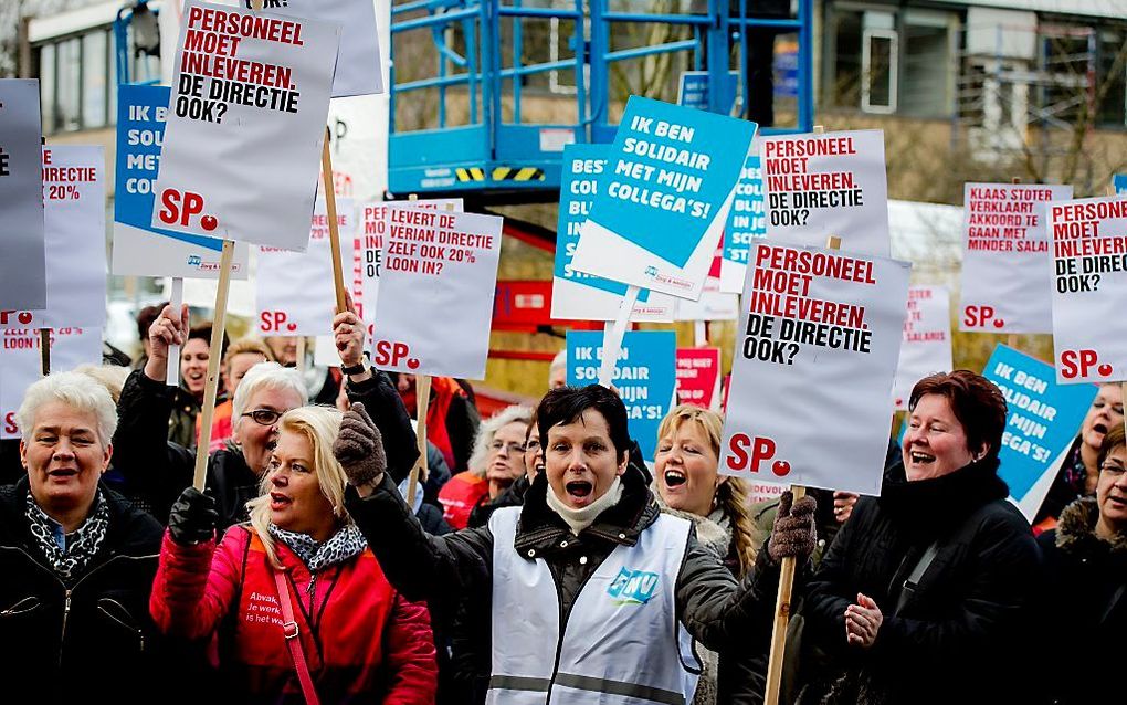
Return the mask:
{"type": "MultiPolygon", "coordinates": [[[[603,334],[568,331],[567,384],[598,384],[603,334]]],[[[676,385],[677,335],[673,331],[628,331],[622,338],[612,384],[627,407],[630,437],[641,447],[642,459],[653,460],[657,428],[669,413],[676,385]]]]}

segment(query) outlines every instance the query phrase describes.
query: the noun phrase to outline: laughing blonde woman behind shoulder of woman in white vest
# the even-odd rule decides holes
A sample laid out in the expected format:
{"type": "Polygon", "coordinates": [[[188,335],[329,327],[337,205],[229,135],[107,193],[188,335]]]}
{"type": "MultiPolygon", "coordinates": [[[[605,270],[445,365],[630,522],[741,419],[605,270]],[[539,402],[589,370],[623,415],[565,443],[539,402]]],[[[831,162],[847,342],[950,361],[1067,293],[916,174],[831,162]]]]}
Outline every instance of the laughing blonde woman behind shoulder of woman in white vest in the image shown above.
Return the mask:
{"type": "MultiPolygon", "coordinates": [[[[692,521],[700,545],[742,580],[752,572],[763,541],[748,510],[746,483],[717,472],[722,426],[716,412],[690,404],[674,407],[658,426],[654,484],[663,511],[692,521]]],[[[760,651],[701,655],[704,672],[695,705],[762,700],[766,671],[760,651]]]]}

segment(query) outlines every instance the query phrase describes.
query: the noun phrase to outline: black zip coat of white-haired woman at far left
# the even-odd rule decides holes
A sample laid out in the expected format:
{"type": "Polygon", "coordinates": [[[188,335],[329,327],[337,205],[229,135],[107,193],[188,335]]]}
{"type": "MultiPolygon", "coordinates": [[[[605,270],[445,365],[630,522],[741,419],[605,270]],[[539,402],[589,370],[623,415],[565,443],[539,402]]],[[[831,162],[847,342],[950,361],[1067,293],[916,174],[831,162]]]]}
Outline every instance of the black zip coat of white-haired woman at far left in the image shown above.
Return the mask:
{"type": "Polygon", "coordinates": [[[109,526],[68,589],[36,546],[27,479],[0,487],[0,677],[9,702],[149,703],[171,693],[149,617],[161,527],[105,485],[109,526]],[[24,693],[17,696],[16,693],[24,693]]]}

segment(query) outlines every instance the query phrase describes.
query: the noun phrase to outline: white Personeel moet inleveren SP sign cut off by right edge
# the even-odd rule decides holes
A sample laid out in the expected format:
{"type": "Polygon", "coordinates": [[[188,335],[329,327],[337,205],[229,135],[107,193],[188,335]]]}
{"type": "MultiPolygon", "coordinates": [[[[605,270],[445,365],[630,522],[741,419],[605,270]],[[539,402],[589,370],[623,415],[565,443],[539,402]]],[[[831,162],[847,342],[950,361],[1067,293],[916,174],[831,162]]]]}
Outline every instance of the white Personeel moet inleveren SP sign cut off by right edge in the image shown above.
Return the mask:
{"type": "Polygon", "coordinates": [[[1127,199],[1050,203],[1057,381],[1127,379],[1127,199]]]}

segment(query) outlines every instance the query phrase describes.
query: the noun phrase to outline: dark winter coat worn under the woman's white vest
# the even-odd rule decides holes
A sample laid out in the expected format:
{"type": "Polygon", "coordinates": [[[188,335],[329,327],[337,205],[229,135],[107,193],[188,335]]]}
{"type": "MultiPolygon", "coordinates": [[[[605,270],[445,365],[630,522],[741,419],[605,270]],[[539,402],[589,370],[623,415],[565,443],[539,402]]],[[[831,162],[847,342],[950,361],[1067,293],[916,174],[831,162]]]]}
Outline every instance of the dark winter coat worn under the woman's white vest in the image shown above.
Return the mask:
{"type": "MultiPolygon", "coordinates": [[[[566,624],[579,590],[615,546],[632,546],[660,514],[646,478],[630,467],[622,476],[622,499],[605,510],[576,537],[567,523],[548,508],[548,482],[539,476],[525,494],[514,548],[548,563],[560,599],[561,624],[566,624]]],[[[411,515],[391,481],[366,499],[355,490],[346,493],[346,508],[367,537],[388,580],[409,600],[429,599],[445,603],[441,611],[464,599],[472,606],[460,619],[468,629],[471,647],[458,647],[463,659],[454,677],[472,694],[467,702],[480,702],[488,688],[490,671],[490,611],[492,589],[492,543],[489,527],[464,529],[443,537],[427,536],[411,515]]],[[[766,552],[743,589],[728,570],[698,543],[689,540],[676,581],[676,603],[681,623],[702,644],[720,651],[731,644],[758,643],[766,649],[778,590],[778,570],[766,552]]]]}

